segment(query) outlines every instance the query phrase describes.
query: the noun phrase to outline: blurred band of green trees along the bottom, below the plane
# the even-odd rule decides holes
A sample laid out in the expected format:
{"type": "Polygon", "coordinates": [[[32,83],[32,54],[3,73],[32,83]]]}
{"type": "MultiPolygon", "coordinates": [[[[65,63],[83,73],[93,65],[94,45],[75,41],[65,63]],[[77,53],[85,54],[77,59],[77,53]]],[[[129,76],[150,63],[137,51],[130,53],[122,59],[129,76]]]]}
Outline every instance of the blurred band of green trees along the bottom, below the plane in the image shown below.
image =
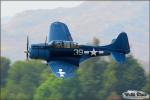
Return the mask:
{"type": "Polygon", "coordinates": [[[111,57],[88,59],[70,79],[56,78],[50,67],[38,60],[11,64],[1,57],[0,69],[1,100],[121,100],[122,92],[131,89],[150,94],[150,74],[146,75],[131,55],[124,64],[111,57]]]}

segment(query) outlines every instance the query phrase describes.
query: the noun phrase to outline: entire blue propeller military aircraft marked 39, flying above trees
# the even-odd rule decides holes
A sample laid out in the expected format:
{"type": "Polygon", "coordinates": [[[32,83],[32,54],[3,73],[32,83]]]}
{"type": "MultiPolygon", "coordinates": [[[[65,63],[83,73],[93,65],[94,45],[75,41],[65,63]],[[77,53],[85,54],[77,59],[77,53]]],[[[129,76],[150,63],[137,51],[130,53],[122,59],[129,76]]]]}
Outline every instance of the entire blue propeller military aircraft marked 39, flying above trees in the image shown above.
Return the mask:
{"type": "Polygon", "coordinates": [[[51,24],[48,43],[32,44],[29,48],[27,37],[25,51],[27,60],[30,57],[47,61],[52,72],[59,78],[74,76],[79,64],[88,58],[112,55],[118,63],[123,63],[129,52],[130,46],[125,32],[120,33],[109,45],[79,45],[73,41],[68,27],[62,22],[51,24]]]}

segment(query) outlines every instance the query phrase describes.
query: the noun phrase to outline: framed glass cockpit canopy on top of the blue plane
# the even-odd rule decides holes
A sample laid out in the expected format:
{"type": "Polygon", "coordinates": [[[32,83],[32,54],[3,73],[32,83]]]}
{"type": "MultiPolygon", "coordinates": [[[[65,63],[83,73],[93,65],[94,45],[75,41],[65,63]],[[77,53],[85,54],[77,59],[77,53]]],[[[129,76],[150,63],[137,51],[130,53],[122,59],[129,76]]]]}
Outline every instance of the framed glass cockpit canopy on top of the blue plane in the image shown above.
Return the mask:
{"type": "Polygon", "coordinates": [[[48,45],[52,46],[53,48],[79,48],[78,43],[73,41],[55,40],[51,41],[48,45]]]}

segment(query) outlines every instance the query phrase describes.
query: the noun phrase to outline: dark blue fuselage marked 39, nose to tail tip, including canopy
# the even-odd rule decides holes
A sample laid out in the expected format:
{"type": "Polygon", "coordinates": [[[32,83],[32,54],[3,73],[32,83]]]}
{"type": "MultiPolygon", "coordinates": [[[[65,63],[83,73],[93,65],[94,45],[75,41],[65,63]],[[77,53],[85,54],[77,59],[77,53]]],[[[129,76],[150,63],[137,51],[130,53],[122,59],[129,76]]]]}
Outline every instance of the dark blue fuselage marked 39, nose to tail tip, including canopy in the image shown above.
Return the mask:
{"type": "Polygon", "coordinates": [[[33,44],[29,49],[31,59],[49,61],[67,61],[79,65],[81,58],[107,56],[111,52],[126,54],[129,51],[114,49],[111,45],[89,46],[78,45],[73,41],[52,41],[51,43],[33,44]]]}

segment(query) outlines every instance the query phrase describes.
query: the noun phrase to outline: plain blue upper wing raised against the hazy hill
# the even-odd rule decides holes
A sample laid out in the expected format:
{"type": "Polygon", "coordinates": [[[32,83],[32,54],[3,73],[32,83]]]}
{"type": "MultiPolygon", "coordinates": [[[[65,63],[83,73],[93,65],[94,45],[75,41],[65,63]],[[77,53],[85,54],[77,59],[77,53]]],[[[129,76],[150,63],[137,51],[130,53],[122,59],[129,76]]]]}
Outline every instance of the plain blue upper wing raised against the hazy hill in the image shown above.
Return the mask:
{"type": "Polygon", "coordinates": [[[62,22],[54,22],[51,24],[48,42],[52,40],[73,41],[66,24],[62,22]]]}

